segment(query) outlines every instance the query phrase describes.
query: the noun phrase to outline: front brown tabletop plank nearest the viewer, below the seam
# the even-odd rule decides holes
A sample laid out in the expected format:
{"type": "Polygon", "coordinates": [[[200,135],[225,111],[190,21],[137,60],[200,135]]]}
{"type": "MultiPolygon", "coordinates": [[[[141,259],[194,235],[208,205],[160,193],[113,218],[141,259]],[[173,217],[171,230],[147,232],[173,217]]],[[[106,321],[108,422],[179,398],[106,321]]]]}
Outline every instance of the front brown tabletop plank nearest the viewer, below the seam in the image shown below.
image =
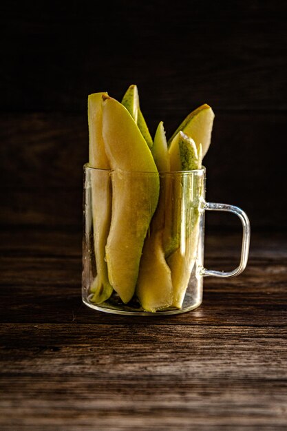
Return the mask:
{"type": "Polygon", "coordinates": [[[3,429],[287,425],[286,328],[8,324],[0,330],[3,429]]]}

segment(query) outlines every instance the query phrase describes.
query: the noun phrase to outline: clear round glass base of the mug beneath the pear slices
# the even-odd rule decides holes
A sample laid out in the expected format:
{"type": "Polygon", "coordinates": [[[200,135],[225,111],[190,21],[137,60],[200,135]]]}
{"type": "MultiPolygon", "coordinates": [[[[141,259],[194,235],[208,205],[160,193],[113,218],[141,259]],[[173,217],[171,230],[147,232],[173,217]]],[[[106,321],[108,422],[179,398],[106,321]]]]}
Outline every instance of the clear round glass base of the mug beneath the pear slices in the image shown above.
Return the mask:
{"type": "Polygon", "coordinates": [[[118,315],[130,315],[130,316],[162,316],[162,315],[173,315],[180,313],[187,313],[187,311],[198,308],[202,303],[202,298],[194,297],[187,293],[184,298],[184,302],[181,308],[169,307],[163,310],[158,310],[156,313],[145,311],[140,306],[130,306],[125,304],[119,304],[116,299],[109,299],[109,301],[103,302],[102,304],[94,304],[91,302],[92,295],[83,297],[83,303],[89,308],[93,308],[97,311],[103,311],[104,313],[118,314],[118,315]]]}

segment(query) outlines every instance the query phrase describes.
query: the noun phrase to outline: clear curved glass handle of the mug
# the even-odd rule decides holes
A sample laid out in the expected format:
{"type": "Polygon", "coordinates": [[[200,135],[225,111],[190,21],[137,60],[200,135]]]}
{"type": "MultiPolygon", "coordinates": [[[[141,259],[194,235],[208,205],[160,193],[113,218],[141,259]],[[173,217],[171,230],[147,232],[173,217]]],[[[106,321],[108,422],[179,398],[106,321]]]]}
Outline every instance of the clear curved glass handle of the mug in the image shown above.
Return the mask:
{"type": "Polygon", "coordinates": [[[242,249],[241,249],[241,258],[240,264],[237,268],[233,269],[233,271],[213,271],[209,269],[202,268],[202,275],[204,277],[213,276],[213,277],[235,277],[235,275],[239,275],[246,268],[248,253],[249,253],[249,244],[250,244],[250,222],[246,213],[241,208],[234,207],[233,205],[228,204],[215,204],[213,202],[206,202],[204,205],[204,209],[207,211],[227,211],[229,213],[236,214],[241,222],[243,228],[242,235],[242,249]]]}

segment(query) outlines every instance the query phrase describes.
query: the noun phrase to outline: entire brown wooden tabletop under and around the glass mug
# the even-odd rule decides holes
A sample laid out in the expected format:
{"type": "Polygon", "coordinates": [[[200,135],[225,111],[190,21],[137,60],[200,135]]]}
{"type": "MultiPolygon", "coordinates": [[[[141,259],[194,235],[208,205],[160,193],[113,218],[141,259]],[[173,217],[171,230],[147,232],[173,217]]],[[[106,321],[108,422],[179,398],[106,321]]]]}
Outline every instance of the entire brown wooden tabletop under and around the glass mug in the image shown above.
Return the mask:
{"type": "MultiPolygon", "coordinates": [[[[253,233],[242,275],[153,318],[82,304],[81,231],[0,238],[1,430],[287,429],[286,233],[253,233]]],[[[209,233],[206,266],[235,266],[239,244],[209,233]]]]}

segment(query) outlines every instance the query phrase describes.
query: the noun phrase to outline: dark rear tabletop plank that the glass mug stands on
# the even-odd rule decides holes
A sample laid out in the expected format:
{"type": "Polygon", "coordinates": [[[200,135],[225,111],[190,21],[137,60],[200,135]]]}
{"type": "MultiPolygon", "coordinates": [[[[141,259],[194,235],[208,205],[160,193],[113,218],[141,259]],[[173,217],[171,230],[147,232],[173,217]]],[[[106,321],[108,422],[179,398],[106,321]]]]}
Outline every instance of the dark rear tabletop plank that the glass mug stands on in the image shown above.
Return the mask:
{"type": "MultiPolygon", "coordinates": [[[[230,280],[207,277],[200,308],[155,324],[284,326],[287,323],[287,237],[253,235],[246,271],[230,280]],[[256,319],[255,319],[256,317],[256,319]],[[188,318],[188,319],[187,319],[188,318]]],[[[127,318],[81,303],[81,232],[0,232],[0,321],[14,323],[122,323],[127,318]],[[9,245],[4,245],[9,244],[9,245]],[[6,251],[4,251],[6,249],[6,251]],[[9,304],[9,306],[7,306],[9,304]]],[[[240,235],[206,235],[205,266],[230,270],[240,259],[240,235]]],[[[136,322],[150,322],[150,317],[136,322]]],[[[133,325],[133,319],[128,319],[133,325]]]]}

